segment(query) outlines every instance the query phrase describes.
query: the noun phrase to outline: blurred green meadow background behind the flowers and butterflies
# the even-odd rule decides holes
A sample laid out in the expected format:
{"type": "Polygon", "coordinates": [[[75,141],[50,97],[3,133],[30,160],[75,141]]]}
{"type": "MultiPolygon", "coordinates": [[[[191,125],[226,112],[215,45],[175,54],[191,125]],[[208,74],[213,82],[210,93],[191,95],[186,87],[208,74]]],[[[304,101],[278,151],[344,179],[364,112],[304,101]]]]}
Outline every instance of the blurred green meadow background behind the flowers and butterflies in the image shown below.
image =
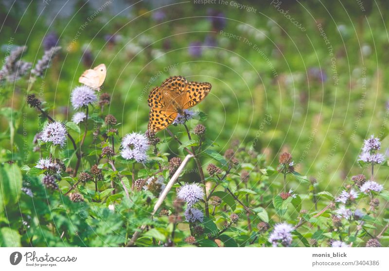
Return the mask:
{"type": "MultiPolygon", "coordinates": [[[[103,92],[112,94],[109,111],[122,123],[120,135],[146,130],[148,92],[167,77],[210,82],[211,94],[195,110],[208,115],[216,149],[239,140],[274,167],[288,150],[321,189],[337,191],[363,171],[357,157],[371,134],[386,152],[388,1],[196,2],[3,0],[1,51],[26,45],[22,58],[35,64],[45,47],[62,46],[33,89],[60,120],[73,115],[70,93],[81,73],[105,63],[103,92]]],[[[0,99],[23,108],[30,142],[42,123],[21,104],[26,86],[3,85],[0,99]]],[[[7,127],[0,117],[4,149],[11,148],[7,127]]],[[[30,152],[28,163],[37,155],[30,152]]],[[[386,183],[388,172],[378,169],[376,180],[386,183]]]]}

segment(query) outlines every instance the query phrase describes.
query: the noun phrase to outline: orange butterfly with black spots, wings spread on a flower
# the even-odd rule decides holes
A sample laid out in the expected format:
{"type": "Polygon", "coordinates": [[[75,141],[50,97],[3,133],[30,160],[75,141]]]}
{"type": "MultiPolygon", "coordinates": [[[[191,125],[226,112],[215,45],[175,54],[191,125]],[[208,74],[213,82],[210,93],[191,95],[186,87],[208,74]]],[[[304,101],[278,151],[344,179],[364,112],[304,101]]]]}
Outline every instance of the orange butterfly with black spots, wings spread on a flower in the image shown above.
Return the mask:
{"type": "Polygon", "coordinates": [[[150,113],[148,130],[158,132],[172,124],[177,114],[195,106],[210,93],[210,83],[188,82],[185,77],[173,76],[153,88],[147,100],[150,113]]]}

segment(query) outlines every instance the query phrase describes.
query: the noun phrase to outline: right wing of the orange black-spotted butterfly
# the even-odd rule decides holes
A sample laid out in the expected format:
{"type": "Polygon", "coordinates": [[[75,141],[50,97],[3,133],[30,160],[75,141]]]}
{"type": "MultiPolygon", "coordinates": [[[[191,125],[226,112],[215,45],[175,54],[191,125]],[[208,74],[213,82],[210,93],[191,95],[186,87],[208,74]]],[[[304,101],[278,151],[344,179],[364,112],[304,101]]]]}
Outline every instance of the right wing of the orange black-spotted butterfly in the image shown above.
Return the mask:
{"type": "Polygon", "coordinates": [[[208,82],[189,82],[181,100],[181,108],[188,109],[204,100],[211,92],[212,85],[208,82]]]}

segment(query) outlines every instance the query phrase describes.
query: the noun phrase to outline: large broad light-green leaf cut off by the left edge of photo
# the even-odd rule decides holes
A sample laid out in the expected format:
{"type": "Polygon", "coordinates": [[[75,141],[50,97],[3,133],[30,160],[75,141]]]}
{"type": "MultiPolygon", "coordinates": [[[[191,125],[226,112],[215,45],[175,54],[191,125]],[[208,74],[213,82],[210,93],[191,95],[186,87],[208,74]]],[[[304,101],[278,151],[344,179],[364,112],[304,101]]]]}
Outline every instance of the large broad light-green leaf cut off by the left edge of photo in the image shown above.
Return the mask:
{"type": "Polygon", "coordinates": [[[4,164],[0,166],[0,211],[2,204],[18,202],[21,192],[22,175],[17,164],[4,164]]]}

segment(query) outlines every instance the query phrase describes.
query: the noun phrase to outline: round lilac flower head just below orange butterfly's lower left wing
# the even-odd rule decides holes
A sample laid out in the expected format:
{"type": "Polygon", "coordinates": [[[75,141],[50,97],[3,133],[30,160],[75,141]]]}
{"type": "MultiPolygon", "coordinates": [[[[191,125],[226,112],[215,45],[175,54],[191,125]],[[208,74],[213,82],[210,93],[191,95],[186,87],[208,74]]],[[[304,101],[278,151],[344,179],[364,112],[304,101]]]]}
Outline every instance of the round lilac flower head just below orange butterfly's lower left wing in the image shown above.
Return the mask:
{"type": "Polygon", "coordinates": [[[135,159],[142,163],[147,159],[149,142],[147,137],[139,133],[127,134],[122,140],[122,157],[127,160],[135,159]]]}

